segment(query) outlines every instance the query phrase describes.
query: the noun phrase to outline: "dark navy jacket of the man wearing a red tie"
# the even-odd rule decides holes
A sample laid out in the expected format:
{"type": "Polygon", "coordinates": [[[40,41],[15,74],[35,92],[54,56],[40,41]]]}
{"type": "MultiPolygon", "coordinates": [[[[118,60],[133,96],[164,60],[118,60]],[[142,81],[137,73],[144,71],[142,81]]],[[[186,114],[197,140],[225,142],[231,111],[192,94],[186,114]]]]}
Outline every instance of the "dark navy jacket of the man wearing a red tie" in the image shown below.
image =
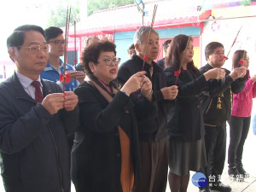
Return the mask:
{"type": "MultiPolygon", "coordinates": [[[[62,92],[42,80],[43,95],[62,92]]],[[[16,74],[0,84],[0,151],[3,183],[8,192],[70,191],[67,136],[79,123],[79,108],[51,115],[29,96],[16,74]]]]}

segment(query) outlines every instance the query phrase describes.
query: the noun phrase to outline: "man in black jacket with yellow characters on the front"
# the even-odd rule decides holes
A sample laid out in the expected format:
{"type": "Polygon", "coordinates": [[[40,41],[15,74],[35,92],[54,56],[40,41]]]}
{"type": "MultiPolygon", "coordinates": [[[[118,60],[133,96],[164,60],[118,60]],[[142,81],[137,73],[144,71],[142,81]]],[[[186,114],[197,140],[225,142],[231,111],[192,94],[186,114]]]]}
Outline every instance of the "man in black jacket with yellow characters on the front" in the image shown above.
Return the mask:
{"type": "MultiPolygon", "coordinates": [[[[206,73],[212,68],[222,68],[225,61],[224,46],[218,42],[207,44],[205,49],[207,65],[200,68],[206,73]]],[[[220,181],[224,169],[226,154],[226,120],[230,119],[233,94],[239,93],[245,86],[246,67],[237,67],[231,72],[225,68],[225,77],[221,80],[211,79],[215,89],[203,92],[201,106],[204,113],[205,145],[207,166],[201,172],[207,177],[207,186],[201,191],[218,190],[230,192],[231,188],[220,181]],[[209,179],[211,178],[211,179],[209,179]],[[211,182],[210,182],[211,180],[211,182]]]]}

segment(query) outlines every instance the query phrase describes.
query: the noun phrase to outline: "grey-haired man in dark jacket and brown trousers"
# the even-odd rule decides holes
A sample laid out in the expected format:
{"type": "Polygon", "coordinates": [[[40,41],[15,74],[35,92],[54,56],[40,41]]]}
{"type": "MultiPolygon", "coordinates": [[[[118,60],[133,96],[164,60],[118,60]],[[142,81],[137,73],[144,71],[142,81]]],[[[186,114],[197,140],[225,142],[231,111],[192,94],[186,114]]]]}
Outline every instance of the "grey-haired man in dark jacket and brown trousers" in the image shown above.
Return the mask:
{"type": "MultiPolygon", "coordinates": [[[[167,113],[177,96],[177,86],[167,87],[164,70],[154,62],[159,53],[159,34],[153,28],[148,37],[150,30],[150,26],[142,26],[135,32],[133,40],[137,54],[132,55],[131,60],[125,61],[118,73],[119,82],[125,84],[133,74],[145,70],[145,75],[153,84],[150,95],[154,96],[158,105],[156,118],[138,122],[142,177],[135,183],[132,192],[166,192],[167,113]],[[146,61],[143,58],[147,58],[146,61]]],[[[142,101],[145,99],[140,92],[137,92],[137,96],[142,101]]]]}

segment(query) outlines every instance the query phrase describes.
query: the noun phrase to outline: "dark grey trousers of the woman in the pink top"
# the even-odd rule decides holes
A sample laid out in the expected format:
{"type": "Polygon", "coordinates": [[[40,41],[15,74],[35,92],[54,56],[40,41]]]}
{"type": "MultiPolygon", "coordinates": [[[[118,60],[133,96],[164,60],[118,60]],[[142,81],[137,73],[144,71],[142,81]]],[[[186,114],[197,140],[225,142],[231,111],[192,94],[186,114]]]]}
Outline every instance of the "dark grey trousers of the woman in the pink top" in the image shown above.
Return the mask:
{"type": "Polygon", "coordinates": [[[230,124],[230,146],[228,154],[229,167],[241,167],[243,145],[247,139],[250,128],[251,117],[231,116],[230,124]]]}

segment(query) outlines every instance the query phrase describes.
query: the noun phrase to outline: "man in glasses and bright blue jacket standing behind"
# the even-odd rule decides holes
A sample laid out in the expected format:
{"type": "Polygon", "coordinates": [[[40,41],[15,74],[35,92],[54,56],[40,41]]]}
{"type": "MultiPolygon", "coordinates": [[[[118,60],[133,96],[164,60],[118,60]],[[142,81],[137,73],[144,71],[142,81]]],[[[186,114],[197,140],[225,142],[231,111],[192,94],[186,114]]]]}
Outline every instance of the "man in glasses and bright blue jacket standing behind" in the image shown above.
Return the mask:
{"type": "Polygon", "coordinates": [[[74,67],[66,64],[66,73],[70,75],[70,82],[60,79],[61,73],[64,73],[64,63],[60,57],[64,55],[65,39],[63,31],[59,27],[50,26],[45,29],[45,39],[49,44],[49,59],[44,71],[40,74],[42,79],[48,79],[65,86],[65,90],[74,90],[79,84],[84,82],[85,74],[75,71],[74,67]],[[61,81],[60,81],[61,80],[61,81]]]}

